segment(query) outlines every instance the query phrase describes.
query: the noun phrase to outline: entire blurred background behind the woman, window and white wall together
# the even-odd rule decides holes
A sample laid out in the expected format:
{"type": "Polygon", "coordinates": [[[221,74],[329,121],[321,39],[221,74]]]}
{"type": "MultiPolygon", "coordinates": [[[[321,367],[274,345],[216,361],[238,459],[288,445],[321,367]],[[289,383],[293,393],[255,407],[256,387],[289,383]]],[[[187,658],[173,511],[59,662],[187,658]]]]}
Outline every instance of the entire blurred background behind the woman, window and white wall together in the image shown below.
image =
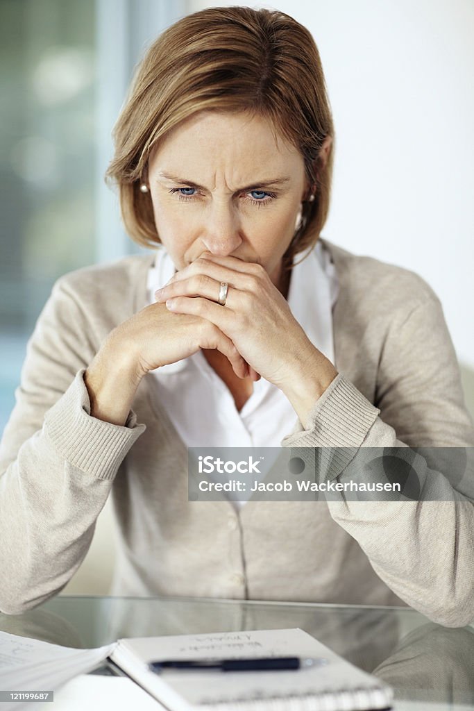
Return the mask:
{"type": "MultiPolygon", "coordinates": [[[[143,251],[103,181],[136,63],[179,17],[234,4],[0,0],[0,433],[55,279],[143,251]]],[[[473,1],[250,6],[291,14],[321,53],[336,133],[323,236],[431,284],[474,412],[473,1]]]]}

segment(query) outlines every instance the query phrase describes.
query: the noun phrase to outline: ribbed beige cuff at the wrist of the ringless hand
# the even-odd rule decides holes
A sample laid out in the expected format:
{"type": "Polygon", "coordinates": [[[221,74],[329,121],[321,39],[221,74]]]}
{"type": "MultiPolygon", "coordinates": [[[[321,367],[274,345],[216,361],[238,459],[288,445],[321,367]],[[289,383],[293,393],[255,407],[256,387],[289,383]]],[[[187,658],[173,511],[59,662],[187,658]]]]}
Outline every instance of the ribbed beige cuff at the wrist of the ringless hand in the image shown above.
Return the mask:
{"type": "Polygon", "coordinates": [[[79,370],[58,402],[45,415],[45,433],[69,464],[97,479],[114,479],[120,464],[145,424],[130,410],[125,426],[90,416],[90,399],[79,370]]]}

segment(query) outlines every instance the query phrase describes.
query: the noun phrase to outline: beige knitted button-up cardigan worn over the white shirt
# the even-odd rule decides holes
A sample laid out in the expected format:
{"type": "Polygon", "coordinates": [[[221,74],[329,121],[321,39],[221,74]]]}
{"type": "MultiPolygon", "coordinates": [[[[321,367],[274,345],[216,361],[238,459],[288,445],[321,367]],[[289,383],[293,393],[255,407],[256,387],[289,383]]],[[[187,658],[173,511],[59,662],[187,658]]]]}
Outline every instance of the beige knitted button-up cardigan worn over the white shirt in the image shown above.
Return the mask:
{"type": "MultiPolygon", "coordinates": [[[[431,289],[326,245],[340,282],[340,374],[284,447],[473,447],[431,289]]],[[[65,586],[112,493],[114,594],[406,603],[448,626],[474,619],[470,501],[250,501],[236,513],[228,501],[188,502],[187,450],[152,374],[124,427],[90,417],[85,368],[107,334],[146,306],[153,257],[58,279],[28,342],[0,445],[0,610],[21,612],[65,586]]],[[[345,464],[336,458],[332,476],[345,464]]]]}

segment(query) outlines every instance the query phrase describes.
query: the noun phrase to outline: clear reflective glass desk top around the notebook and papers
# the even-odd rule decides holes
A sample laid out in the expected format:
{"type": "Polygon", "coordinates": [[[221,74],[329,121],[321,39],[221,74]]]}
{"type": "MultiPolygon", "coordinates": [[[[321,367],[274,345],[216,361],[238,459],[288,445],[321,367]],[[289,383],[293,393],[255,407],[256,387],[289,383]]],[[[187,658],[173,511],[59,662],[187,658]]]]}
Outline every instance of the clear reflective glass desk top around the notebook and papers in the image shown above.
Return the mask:
{"type": "Polygon", "coordinates": [[[391,685],[395,710],[474,710],[473,627],[447,629],[408,608],[60,596],[22,615],[0,614],[2,631],[80,648],[121,637],[289,627],[391,685]]]}

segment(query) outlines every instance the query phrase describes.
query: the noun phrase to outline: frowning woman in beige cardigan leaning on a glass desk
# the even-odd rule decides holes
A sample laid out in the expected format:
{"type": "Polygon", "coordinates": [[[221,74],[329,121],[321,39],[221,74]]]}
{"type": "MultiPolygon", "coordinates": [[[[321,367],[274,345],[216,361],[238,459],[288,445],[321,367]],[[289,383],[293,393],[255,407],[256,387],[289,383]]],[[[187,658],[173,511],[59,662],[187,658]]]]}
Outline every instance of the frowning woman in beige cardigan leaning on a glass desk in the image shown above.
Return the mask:
{"type": "Polygon", "coordinates": [[[1,444],[0,609],[64,587],[111,493],[115,594],[473,619],[465,482],[409,449],[474,444],[455,353],[419,277],[319,239],[334,132],[311,35],[266,10],[184,18],[114,137],[124,223],[154,251],[65,275],[38,320],[1,444]],[[359,447],[404,447],[444,500],[188,501],[187,447],[280,443],[341,448],[320,450],[337,481],[359,447]]]}

